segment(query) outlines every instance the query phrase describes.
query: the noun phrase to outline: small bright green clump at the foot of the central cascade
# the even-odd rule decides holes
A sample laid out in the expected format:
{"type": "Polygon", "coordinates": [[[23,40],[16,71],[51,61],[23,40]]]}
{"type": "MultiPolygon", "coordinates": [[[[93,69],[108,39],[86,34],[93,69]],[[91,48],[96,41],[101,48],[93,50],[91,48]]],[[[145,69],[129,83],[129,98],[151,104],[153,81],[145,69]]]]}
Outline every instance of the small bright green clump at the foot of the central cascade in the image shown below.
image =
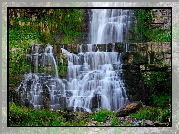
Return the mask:
{"type": "Polygon", "coordinates": [[[103,122],[110,115],[114,115],[114,113],[107,109],[101,109],[98,112],[96,112],[94,115],[92,115],[91,118],[94,118],[94,120],[98,122],[103,122]]]}

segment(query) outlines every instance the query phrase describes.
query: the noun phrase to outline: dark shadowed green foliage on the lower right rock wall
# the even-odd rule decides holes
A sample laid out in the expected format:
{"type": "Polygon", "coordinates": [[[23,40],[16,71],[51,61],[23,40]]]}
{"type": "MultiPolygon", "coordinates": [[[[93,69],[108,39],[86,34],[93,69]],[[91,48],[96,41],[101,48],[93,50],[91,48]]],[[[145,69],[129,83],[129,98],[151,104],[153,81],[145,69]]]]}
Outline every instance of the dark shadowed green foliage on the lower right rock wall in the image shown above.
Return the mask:
{"type": "Polygon", "coordinates": [[[150,104],[167,107],[171,98],[171,76],[169,72],[152,71],[142,73],[143,80],[149,89],[150,104]]]}

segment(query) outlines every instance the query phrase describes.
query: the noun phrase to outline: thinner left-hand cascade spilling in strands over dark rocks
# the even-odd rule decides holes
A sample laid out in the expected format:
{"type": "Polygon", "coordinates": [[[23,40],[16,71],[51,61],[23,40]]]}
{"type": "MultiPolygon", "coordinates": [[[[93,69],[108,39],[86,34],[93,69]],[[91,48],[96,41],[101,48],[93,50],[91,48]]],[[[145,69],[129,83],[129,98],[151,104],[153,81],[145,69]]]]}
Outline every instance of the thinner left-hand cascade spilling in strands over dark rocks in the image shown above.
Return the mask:
{"type": "Polygon", "coordinates": [[[39,52],[39,49],[39,45],[32,47],[31,55],[27,57],[31,64],[30,71],[24,74],[24,80],[16,91],[19,91],[24,105],[42,108],[49,103],[49,108],[59,109],[60,100],[65,97],[65,84],[58,78],[53,47],[48,44],[42,53],[39,52]],[[44,69],[50,68],[54,73],[49,73],[48,70],[38,73],[39,66],[44,69]]]}

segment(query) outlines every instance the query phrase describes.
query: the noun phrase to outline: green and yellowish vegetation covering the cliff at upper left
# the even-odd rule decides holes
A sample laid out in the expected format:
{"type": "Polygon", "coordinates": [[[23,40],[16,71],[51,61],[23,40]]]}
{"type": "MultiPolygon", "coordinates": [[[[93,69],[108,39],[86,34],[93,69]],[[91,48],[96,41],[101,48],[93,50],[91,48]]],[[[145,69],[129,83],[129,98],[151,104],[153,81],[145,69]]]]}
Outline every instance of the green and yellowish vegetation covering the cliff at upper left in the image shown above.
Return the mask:
{"type": "MultiPolygon", "coordinates": [[[[81,34],[83,20],[81,9],[19,9],[20,16],[17,14],[17,10],[9,10],[9,84],[12,87],[18,84],[21,75],[28,72],[26,54],[31,51],[29,43],[74,43],[77,41],[75,37],[81,34]],[[53,39],[56,35],[60,36],[53,39]]],[[[39,67],[38,71],[43,72],[43,69],[39,67]]],[[[66,63],[59,65],[58,70],[59,75],[63,75],[66,63]]]]}

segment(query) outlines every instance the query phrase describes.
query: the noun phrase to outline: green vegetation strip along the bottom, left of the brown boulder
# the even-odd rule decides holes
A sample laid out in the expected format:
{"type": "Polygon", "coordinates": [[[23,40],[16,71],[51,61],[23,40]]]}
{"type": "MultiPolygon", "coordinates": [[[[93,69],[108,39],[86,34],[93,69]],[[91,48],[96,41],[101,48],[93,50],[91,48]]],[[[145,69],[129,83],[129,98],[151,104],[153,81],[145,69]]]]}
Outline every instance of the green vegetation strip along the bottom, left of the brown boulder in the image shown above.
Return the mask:
{"type": "MultiPolygon", "coordinates": [[[[91,120],[97,121],[100,126],[108,116],[114,113],[107,109],[101,109],[96,113],[51,111],[47,109],[31,109],[9,103],[10,126],[87,126],[91,120]]],[[[113,118],[112,126],[117,125],[117,117],[113,118]]]]}

